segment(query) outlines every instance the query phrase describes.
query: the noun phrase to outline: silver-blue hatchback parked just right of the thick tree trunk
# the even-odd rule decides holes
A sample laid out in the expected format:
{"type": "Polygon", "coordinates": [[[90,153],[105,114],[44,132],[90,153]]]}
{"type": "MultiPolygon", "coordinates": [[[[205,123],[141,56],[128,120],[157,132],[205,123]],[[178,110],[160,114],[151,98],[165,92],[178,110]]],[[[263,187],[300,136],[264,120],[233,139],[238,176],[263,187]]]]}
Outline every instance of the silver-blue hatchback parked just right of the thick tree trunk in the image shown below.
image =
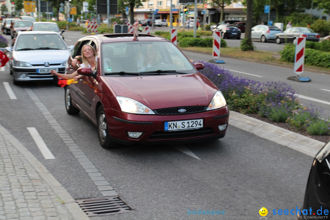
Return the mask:
{"type": "Polygon", "coordinates": [[[251,38],[258,39],[261,42],[268,40],[275,41],[275,34],[282,33],[283,31],[276,26],[257,25],[252,27],[251,38]]]}

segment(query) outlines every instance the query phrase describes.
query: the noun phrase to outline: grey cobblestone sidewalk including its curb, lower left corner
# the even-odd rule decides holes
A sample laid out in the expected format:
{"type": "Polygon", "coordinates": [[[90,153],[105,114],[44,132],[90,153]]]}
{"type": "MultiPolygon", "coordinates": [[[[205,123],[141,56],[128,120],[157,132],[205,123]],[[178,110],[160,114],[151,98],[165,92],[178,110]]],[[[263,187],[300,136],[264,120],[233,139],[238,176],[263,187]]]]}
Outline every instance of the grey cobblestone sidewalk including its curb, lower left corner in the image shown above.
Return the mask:
{"type": "Polygon", "coordinates": [[[0,219],[89,219],[65,188],[1,125],[0,219]]]}

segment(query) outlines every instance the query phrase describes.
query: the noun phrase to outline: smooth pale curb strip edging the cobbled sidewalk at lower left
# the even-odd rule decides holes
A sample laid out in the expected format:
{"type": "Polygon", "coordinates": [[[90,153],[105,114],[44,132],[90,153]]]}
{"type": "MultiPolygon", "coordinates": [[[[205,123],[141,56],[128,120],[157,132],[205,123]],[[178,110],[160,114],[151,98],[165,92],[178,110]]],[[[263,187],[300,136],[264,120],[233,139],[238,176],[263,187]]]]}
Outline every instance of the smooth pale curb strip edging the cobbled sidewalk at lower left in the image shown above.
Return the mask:
{"type": "Polygon", "coordinates": [[[37,173],[49,184],[55,195],[57,195],[68,208],[72,216],[76,220],[89,220],[87,215],[82,211],[79,205],[75,202],[72,196],[66,189],[49,173],[49,171],[42,165],[32,153],[30,153],[13,135],[11,135],[2,125],[0,125],[0,134],[4,136],[16,149],[19,151],[37,173]]]}

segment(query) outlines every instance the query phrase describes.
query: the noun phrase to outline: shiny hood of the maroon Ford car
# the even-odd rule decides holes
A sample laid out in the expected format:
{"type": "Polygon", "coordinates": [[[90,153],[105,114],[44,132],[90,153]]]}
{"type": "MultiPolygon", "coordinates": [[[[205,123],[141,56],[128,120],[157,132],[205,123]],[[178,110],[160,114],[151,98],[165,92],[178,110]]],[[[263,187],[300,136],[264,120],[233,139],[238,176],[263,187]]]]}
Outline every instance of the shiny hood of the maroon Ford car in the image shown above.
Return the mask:
{"type": "Polygon", "coordinates": [[[209,106],[217,87],[204,75],[104,77],[116,96],[134,99],[150,109],[209,106]]]}

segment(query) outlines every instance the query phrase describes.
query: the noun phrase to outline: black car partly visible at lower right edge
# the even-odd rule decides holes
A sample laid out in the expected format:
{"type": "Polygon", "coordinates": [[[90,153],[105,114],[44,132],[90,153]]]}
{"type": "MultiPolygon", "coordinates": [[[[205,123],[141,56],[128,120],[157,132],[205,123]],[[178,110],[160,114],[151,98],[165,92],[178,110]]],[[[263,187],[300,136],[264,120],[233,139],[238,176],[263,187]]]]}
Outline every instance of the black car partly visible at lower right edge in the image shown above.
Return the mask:
{"type": "MultiPolygon", "coordinates": [[[[328,216],[330,209],[330,141],[316,154],[308,176],[305,197],[299,219],[328,216]],[[308,209],[308,211],[304,211],[308,209]],[[310,212],[310,209],[312,211],[310,212]],[[318,211],[321,209],[322,211],[318,211]],[[314,213],[314,214],[313,214],[314,213]]],[[[298,211],[299,212],[299,211],[298,211]]],[[[324,218],[324,217],[323,217],[324,218]]]]}

